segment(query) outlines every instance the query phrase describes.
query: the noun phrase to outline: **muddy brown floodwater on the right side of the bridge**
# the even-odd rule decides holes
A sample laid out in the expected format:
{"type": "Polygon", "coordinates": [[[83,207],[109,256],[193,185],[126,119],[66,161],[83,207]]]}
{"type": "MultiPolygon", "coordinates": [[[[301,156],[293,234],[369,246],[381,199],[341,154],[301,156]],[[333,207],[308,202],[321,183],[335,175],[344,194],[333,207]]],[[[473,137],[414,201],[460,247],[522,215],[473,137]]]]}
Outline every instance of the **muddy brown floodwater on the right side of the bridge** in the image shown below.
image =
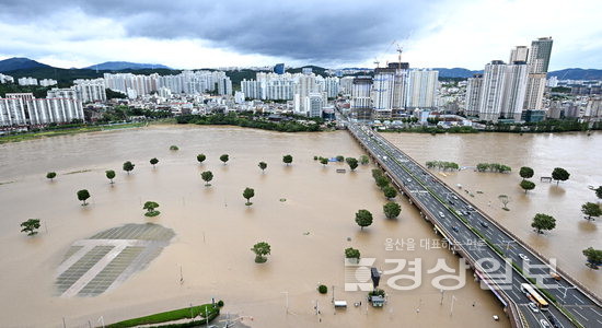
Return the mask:
{"type": "Polygon", "coordinates": [[[422,165],[436,160],[472,166],[456,173],[444,172],[445,176],[433,172],[456,190],[456,185],[461,184],[474,198],[464,196],[498,223],[544,256],[556,258],[560,269],[602,296],[602,272],[586,267],[581,253],[588,247],[602,248],[600,221],[584,220],[581,213],[581,204],[599,201],[588,186],[602,185],[602,133],[383,136],[422,165]],[[512,173],[478,173],[474,171],[477,163],[506,164],[512,173]],[[536,184],[535,189],[528,194],[519,186],[521,166],[530,166],[535,172],[531,178],[536,184]],[[569,179],[558,185],[540,181],[542,176],[552,176],[554,167],[567,169],[569,179]],[[498,195],[511,198],[510,211],[501,209],[498,195]],[[556,218],[556,229],[543,235],[534,233],[531,222],[535,213],[556,218]]]}

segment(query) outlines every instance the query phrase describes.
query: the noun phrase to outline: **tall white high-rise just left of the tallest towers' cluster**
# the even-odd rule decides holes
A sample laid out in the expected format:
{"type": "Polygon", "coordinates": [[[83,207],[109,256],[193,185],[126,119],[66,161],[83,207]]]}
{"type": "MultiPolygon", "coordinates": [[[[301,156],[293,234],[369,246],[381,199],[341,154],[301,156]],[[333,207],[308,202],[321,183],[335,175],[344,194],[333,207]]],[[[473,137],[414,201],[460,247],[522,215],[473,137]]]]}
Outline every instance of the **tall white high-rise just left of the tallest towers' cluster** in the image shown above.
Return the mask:
{"type": "Polygon", "coordinates": [[[506,65],[501,60],[494,60],[485,66],[483,89],[478,103],[478,118],[481,120],[497,121],[501,113],[503,86],[506,83],[506,65]]]}

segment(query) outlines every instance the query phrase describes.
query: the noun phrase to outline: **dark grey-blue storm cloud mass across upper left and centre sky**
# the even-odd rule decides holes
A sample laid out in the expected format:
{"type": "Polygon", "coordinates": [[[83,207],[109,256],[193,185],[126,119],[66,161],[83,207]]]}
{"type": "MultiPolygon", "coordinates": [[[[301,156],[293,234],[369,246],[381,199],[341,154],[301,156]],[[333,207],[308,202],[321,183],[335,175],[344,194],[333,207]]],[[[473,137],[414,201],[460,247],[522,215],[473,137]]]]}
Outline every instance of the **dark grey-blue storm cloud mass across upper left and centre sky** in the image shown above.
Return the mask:
{"type": "Polygon", "coordinates": [[[427,22],[439,1],[60,1],[3,0],[0,17],[35,23],[80,9],[123,24],[129,36],[200,38],[241,54],[357,61],[427,22]]]}

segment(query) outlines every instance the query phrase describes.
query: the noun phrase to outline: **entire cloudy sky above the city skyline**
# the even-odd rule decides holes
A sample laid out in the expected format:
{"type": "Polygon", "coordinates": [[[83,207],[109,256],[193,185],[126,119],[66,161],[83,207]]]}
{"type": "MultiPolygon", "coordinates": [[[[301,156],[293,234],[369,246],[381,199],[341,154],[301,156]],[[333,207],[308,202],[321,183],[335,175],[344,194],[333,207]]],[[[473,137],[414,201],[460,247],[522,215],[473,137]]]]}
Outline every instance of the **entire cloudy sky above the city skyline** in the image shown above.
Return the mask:
{"type": "Polygon", "coordinates": [[[602,69],[602,0],[0,0],[0,59],[483,69],[552,36],[549,70],[602,69]]]}

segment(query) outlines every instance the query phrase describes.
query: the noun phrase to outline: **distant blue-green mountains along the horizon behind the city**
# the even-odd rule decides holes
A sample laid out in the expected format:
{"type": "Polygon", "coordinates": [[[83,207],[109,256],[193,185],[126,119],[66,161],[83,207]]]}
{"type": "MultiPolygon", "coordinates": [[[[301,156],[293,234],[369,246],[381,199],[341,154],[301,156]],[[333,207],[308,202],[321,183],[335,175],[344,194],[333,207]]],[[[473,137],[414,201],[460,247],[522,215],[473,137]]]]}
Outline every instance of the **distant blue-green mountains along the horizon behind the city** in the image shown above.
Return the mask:
{"type": "MultiPolygon", "coordinates": [[[[316,73],[324,73],[325,69],[311,66],[316,73]]],[[[483,71],[473,71],[464,68],[433,68],[439,71],[440,78],[471,78],[475,73],[483,71]]],[[[301,69],[290,69],[290,72],[298,72],[301,69]]],[[[177,74],[181,70],[174,70],[163,65],[137,63],[128,61],[107,61],[99,65],[89,66],[81,69],[55,68],[45,63],[37,62],[27,58],[9,58],[0,60],[0,73],[5,73],[14,78],[33,77],[36,79],[55,79],[59,84],[71,83],[74,79],[94,79],[101,78],[105,72],[135,72],[139,74],[160,73],[177,74]]],[[[548,77],[557,77],[559,80],[602,80],[602,70],[569,68],[547,73],[548,77]]],[[[235,82],[235,81],[232,81],[235,82]]]]}

